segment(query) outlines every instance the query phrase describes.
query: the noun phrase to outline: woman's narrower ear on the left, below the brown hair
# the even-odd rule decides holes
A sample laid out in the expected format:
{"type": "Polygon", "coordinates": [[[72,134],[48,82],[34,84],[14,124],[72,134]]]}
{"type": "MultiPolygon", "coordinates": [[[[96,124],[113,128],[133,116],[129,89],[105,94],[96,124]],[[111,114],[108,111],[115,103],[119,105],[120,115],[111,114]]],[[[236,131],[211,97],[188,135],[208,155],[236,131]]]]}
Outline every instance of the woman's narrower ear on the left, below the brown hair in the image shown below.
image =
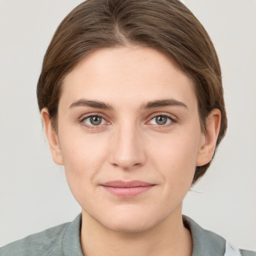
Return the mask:
{"type": "Polygon", "coordinates": [[[63,165],[61,150],[58,142],[58,136],[53,129],[48,109],[44,107],[41,110],[42,121],[44,124],[45,134],[49,143],[52,160],[59,165],[63,165]]]}

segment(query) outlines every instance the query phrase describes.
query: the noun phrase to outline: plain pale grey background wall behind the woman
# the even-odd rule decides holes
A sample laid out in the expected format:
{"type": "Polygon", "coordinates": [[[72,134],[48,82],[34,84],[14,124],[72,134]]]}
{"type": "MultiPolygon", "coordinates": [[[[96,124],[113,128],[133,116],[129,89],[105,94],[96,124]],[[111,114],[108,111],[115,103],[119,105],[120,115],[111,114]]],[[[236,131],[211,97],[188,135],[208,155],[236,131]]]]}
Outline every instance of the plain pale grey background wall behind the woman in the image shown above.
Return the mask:
{"type": "MultiPolygon", "coordinates": [[[[36,102],[43,54],[81,0],[0,0],[0,245],[71,221],[80,207],[52,160],[36,102]]],[[[210,34],[223,72],[228,130],[183,213],[256,249],[256,1],[184,0],[210,34]]]]}

